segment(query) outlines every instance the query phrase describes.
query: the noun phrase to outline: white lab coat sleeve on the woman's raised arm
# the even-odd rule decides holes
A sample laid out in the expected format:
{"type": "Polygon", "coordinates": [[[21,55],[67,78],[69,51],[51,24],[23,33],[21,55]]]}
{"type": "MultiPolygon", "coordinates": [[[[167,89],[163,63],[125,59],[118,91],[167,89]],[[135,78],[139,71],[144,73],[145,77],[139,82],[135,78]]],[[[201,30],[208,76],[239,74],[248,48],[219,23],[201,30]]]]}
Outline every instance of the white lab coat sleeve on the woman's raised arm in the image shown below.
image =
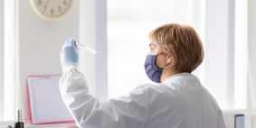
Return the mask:
{"type": "Polygon", "coordinates": [[[79,127],[142,128],[147,122],[149,96],[146,85],[137,87],[127,96],[100,102],[90,95],[86,79],[76,63],[65,65],[62,71],[62,100],[79,127]]]}

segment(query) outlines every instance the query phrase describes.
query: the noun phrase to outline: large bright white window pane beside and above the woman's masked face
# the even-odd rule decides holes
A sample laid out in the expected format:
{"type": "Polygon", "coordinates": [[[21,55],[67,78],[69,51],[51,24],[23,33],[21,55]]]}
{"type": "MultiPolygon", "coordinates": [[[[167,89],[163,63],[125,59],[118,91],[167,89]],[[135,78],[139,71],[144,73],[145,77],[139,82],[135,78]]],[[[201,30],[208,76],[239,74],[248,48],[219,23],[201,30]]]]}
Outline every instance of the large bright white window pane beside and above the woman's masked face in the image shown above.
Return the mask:
{"type": "Polygon", "coordinates": [[[187,23],[186,0],[108,1],[109,98],[151,82],[144,61],[147,33],[165,23],[187,23]]]}

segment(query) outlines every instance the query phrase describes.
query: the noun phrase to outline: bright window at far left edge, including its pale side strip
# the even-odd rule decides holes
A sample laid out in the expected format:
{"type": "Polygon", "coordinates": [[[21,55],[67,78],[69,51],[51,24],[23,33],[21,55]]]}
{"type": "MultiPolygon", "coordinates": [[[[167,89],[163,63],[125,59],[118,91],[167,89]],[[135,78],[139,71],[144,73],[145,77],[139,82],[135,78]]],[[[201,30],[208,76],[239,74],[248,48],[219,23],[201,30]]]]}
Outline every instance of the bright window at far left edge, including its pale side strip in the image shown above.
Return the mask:
{"type": "Polygon", "coordinates": [[[14,0],[0,5],[0,121],[14,121],[14,0]]]}

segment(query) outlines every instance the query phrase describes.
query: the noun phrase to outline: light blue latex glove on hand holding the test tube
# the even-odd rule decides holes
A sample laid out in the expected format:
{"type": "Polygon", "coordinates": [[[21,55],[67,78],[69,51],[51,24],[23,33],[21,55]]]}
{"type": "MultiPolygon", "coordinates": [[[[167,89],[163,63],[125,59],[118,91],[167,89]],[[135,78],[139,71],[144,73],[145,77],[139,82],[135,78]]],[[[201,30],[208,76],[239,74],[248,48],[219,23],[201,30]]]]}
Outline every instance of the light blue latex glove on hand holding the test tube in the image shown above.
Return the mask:
{"type": "Polygon", "coordinates": [[[78,63],[78,50],[77,45],[74,45],[74,38],[65,41],[65,44],[62,46],[61,51],[61,62],[62,67],[70,62],[78,63]]]}

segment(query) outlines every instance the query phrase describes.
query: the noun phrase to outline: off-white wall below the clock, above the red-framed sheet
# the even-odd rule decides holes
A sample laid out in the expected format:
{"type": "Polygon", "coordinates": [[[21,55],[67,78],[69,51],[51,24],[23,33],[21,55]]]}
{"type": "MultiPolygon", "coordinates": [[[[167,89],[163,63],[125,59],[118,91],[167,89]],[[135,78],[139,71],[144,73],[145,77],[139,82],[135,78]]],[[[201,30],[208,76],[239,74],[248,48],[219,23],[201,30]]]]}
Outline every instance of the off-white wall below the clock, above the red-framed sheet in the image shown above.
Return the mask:
{"type": "Polygon", "coordinates": [[[64,41],[79,39],[79,1],[71,13],[57,22],[48,22],[33,13],[28,0],[18,5],[19,69],[25,113],[29,115],[26,78],[31,75],[62,75],[60,51],[64,41]]]}

